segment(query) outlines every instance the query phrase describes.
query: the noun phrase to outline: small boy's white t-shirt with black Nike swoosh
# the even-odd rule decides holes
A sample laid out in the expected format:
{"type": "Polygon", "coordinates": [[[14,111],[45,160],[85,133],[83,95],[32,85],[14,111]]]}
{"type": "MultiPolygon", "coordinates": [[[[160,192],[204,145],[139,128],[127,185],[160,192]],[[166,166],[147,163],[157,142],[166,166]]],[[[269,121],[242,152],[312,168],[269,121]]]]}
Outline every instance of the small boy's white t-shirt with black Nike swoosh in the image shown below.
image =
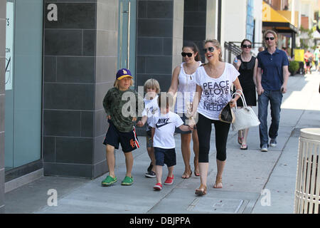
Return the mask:
{"type": "Polygon", "coordinates": [[[174,130],[183,125],[183,121],[176,113],[154,115],[151,121],[151,127],[156,128],[154,133],[154,147],[163,149],[172,149],[176,147],[174,141],[174,130]]]}

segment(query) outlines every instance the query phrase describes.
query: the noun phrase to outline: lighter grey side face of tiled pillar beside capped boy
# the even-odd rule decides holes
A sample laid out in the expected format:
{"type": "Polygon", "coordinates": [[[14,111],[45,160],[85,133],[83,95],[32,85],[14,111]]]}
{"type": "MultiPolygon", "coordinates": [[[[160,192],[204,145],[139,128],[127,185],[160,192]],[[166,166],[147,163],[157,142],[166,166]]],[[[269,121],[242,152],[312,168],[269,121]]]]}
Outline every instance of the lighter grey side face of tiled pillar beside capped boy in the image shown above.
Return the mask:
{"type": "Polygon", "coordinates": [[[107,90],[113,87],[117,72],[118,8],[118,0],[97,0],[93,177],[108,170],[105,145],[102,144],[107,130],[102,101],[107,90]]]}

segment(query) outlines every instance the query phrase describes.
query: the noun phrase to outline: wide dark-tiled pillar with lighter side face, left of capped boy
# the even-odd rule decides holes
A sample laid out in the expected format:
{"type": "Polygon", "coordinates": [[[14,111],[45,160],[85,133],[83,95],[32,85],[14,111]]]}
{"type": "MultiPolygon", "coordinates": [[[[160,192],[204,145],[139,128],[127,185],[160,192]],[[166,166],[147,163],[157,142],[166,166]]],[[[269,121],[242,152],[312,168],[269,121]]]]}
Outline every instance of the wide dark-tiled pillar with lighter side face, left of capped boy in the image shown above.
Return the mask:
{"type": "Polygon", "coordinates": [[[116,48],[100,48],[106,39],[117,46],[117,14],[109,14],[113,24],[101,23],[108,10],[117,11],[118,1],[45,1],[45,175],[94,178],[107,172],[102,99],[113,84],[117,63],[116,48]],[[46,18],[51,3],[58,7],[58,21],[46,18]]]}

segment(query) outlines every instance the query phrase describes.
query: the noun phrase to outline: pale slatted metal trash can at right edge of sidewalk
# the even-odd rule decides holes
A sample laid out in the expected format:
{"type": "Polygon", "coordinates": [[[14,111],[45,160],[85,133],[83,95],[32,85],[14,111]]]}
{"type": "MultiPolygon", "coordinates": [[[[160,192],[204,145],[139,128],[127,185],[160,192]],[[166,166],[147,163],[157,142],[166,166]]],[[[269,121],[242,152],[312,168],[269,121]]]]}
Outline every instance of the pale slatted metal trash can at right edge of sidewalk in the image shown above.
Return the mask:
{"type": "Polygon", "coordinates": [[[320,128],[300,130],[295,214],[320,213],[320,128]]]}

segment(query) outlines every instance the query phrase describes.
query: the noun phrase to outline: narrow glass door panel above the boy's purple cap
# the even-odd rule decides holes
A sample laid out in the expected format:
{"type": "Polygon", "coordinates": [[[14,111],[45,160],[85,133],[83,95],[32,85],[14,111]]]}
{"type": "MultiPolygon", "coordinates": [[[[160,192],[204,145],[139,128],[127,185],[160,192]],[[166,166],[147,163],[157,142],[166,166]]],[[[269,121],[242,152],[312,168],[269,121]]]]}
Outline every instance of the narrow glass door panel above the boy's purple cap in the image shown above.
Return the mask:
{"type": "Polygon", "coordinates": [[[119,0],[118,69],[136,74],[137,0],[119,0]]]}

